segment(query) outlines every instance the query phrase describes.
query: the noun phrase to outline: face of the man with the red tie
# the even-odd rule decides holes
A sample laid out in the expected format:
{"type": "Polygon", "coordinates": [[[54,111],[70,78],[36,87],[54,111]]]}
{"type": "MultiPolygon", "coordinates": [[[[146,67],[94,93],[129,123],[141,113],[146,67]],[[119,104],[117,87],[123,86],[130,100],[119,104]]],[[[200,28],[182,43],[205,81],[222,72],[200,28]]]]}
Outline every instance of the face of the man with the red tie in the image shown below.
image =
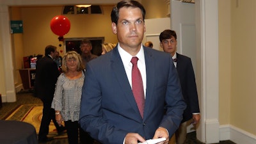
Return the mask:
{"type": "Polygon", "coordinates": [[[140,47],[146,31],[140,8],[120,8],[118,22],[112,23],[112,31],[123,49],[140,47]]]}

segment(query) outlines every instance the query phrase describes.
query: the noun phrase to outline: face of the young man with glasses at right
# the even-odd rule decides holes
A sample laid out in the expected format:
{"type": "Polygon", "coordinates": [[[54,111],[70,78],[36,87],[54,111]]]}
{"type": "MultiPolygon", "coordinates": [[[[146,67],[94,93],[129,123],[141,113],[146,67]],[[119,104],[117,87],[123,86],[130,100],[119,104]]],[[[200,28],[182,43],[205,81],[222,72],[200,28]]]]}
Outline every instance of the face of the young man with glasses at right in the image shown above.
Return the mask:
{"type": "Polygon", "coordinates": [[[168,52],[173,56],[177,49],[177,40],[175,40],[175,38],[172,36],[169,39],[162,40],[160,45],[163,47],[164,52],[168,52]]]}

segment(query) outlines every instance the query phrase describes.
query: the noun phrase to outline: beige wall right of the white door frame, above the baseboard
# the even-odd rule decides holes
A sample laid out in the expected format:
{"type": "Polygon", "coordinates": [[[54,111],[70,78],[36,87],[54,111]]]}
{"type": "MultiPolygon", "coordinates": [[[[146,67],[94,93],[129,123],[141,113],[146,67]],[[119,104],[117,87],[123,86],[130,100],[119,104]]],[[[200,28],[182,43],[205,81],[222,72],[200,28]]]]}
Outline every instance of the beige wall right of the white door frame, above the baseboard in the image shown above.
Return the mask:
{"type": "Polygon", "coordinates": [[[256,135],[256,1],[218,2],[220,124],[256,135]]]}

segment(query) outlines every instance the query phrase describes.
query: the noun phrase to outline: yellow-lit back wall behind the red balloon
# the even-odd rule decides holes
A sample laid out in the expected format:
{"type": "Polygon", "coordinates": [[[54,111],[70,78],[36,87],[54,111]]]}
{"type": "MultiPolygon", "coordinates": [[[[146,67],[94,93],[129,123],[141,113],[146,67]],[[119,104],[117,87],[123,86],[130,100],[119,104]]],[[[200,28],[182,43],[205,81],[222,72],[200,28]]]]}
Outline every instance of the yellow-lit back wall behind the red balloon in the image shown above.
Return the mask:
{"type": "MultiPolygon", "coordinates": [[[[70,31],[64,38],[105,37],[105,42],[116,43],[116,36],[111,30],[110,13],[113,6],[102,6],[103,14],[65,15],[70,20],[70,31]]],[[[46,45],[58,47],[58,36],[52,33],[51,19],[61,15],[62,6],[21,8],[24,22],[24,56],[44,54],[46,45]]],[[[58,47],[58,49],[63,49],[58,47]]]]}

